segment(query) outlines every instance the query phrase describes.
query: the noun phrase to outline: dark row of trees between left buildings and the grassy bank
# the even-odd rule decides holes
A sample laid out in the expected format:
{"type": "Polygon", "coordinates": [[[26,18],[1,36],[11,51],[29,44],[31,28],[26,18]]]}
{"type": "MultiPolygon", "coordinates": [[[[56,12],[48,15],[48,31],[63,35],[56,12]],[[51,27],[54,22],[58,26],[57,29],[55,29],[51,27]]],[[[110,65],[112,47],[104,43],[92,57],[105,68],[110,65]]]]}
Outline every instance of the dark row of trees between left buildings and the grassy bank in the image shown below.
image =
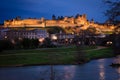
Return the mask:
{"type": "Polygon", "coordinates": [[[12,49],[35,49],[35,48],[50,48],[56,47],[52,44],[50,38],[45,38],[42,43],[38,39],[23,38],[22,40],[15,39],[14,42],[10,40],[0,40],[0,52],[3,50],[12,49]]]}

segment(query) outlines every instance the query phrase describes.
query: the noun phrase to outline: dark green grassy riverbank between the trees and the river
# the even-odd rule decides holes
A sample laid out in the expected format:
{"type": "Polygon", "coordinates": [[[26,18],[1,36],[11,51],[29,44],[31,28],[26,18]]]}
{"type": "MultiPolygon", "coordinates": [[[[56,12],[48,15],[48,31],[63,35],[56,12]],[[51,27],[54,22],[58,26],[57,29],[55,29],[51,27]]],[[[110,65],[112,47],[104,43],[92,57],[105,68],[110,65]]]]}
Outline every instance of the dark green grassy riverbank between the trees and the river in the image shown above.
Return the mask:
{"type": "MultiPolygon", "coordinates": [[[[87,61],[115,56],[110,47],[83,47],[82,50],[87,61]]],[[[0,67],[77,64],[77,52],[76,47],[3,51],[0,53],[0,67]]]]}

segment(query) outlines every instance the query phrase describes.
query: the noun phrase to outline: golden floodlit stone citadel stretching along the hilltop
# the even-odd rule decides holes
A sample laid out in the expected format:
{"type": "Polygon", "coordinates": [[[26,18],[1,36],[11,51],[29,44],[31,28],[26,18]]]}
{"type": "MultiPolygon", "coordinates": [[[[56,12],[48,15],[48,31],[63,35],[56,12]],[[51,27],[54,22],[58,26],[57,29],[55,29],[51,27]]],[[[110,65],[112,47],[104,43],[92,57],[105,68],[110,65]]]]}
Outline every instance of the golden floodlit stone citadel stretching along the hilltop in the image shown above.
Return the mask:
{"type": "Polygon", "coordinates": [[[28,19],[12,19],[12,20],[6,20],[4,21],[4,27],[51,27],[51,26],[59,26],[62,28],[66,27],[80,27],[82,30],[87,29],[88,27],[92,26],[96,29],[99,29],[101,31],[113,31],[114,26],[109,24],[99,24],[95,23],[93,20],[88,21],[86,18],[86,14],[79,15],[76,18],[75,17],[63,17],[63,19],[52,19],[48,20],[45,18],[40,19],[34,19],[34,18],[28,18],[28,19]]]}

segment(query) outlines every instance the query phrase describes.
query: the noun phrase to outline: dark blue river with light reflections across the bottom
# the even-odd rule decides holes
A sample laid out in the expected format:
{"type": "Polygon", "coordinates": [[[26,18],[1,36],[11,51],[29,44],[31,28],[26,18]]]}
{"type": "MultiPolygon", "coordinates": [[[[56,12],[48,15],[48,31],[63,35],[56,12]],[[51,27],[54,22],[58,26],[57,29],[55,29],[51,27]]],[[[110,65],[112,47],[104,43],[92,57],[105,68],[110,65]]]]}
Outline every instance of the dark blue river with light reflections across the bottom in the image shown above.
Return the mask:
{"type": "Polygon", "coordinates": [[[109,66],[114,58],[83,65],[44,65],[0,68],[0,80],[120,80],[120,68],[109,66]]]}

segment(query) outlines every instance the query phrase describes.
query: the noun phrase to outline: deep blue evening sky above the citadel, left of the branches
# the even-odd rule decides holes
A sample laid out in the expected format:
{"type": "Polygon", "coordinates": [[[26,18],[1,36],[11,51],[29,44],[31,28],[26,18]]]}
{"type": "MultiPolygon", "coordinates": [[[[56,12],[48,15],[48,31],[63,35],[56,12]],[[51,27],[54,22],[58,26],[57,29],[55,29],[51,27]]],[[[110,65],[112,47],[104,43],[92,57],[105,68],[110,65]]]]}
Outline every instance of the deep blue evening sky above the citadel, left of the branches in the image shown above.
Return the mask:
{"type": "Polygon", "coordinates": [[[104,22],[106,10],[102,0],[0,0],[0,22],[16,16],[51,19],[51,16],[87,14],[87,18],[104,22]]]}

